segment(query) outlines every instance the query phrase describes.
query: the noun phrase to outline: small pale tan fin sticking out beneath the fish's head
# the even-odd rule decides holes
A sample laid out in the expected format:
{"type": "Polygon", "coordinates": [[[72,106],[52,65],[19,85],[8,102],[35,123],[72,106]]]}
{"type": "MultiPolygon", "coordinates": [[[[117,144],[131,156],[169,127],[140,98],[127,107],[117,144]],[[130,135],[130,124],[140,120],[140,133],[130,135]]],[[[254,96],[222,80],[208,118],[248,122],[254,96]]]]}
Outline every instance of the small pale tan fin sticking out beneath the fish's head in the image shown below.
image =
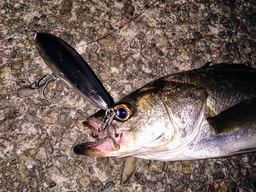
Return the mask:
{"type": "Polygon", "coordinates": [[[125,185],[131,177],[134,175],[140,164],[140,158],[138,157],[127,157],[125,163],[125,169],[122,176],[121,184],[125,185]]]}

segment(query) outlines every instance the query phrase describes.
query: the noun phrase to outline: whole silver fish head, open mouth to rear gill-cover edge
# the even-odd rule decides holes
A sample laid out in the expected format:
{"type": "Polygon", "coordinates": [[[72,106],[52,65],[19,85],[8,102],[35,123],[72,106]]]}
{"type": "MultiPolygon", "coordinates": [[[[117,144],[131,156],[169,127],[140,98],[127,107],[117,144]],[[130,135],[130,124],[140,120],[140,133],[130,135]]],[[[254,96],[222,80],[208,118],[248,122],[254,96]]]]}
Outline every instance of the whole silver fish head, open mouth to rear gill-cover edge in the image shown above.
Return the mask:
{"type": "MultiPolygon", "coordinates": [[[[101,140],[76,145],[74,152],[90,157],[173,160],[197,136],[206,98],[204,89],[187,83],[160,79],[146,84],[113,105],[116,115],[110,139],[101,134],[101,140]]],[[[97,135],[104,115],[99,111],[84,124],[97,135]]]]}

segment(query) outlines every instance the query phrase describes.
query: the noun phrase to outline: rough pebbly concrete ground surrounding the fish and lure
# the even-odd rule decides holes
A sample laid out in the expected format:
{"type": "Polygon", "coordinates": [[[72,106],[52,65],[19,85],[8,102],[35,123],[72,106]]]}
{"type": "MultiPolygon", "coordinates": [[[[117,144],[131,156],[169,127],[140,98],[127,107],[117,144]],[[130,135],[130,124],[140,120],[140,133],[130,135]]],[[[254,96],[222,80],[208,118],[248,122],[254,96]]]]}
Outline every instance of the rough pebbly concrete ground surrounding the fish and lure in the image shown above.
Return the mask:
{"type": "Polygon", "coordinates": [[[81,122],[98,109],[59,80],[46,90],[47,96],[56,91],[50,101],[28,88],[41,75],[51,75],[35,49],[32,27],[69,42],[115,101],[147,82],[207,61],[255,67],[255,1],[151,1],[143,7],[145,3],[1,0],[1,192],[256,191],[256,154],[143,160],[122,186],[125,158],[73,153],[74,145],[93,140],[81,122]],[[122,29],[95,41],[133,16],[122,29]]]}

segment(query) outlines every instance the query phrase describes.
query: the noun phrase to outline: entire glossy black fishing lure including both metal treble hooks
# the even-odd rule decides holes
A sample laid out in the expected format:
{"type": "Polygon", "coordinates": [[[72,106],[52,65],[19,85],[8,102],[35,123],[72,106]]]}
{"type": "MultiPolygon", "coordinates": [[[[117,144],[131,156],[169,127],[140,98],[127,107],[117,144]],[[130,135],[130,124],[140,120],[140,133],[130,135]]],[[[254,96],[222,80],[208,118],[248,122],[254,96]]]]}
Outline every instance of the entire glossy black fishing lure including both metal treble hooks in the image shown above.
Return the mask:
{"type": "Polygon", "coordinates": [[[88,63],[62,39],[49,33],[41,33],[36,29],[33,29],[33,32],[36,48],[53,74],[48,80],[39,85],[40,81],[45,78],[46,75],[41,76],[30,84],[30,89],[42,87],[42,97],[46,100],[50,100],[54,95],[50,98],[46,98],[44,90],[49,82],[60,78],[82,98],[105,111],[105,116],[102,117],[101,122],[106,123],[106,125],[102,127],[100,123],[98,126],[99,134],[93,135],[93,137],[98,137],[101,133],[106,131],[108,139],[113,144],[113,140],[109,137],[110,125],[116,115],[116,111],[111,108],[113,99],[105,90],[88,63]]]}

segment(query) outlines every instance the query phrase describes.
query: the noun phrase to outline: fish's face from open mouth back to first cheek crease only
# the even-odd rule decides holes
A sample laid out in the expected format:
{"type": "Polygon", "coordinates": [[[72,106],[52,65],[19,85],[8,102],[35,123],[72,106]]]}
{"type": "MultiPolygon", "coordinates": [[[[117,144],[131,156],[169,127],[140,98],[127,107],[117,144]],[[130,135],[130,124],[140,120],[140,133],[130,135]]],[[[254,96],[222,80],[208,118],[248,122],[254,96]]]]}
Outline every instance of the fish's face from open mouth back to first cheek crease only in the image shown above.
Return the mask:
{"type": "MultiPolygon", "coordinates": [[[[154,90],[152,86],[143,87],[113,105],[116,115],[109,129],[113,142],[104,133],[99,141],[76,145],[74,152],[89,157],[126,157],[166,150],[165,144],[175,130],[154,90]]],[[[103,116],[105,111],[100,110],[83,124],[97,135],[103,116]]]]}

